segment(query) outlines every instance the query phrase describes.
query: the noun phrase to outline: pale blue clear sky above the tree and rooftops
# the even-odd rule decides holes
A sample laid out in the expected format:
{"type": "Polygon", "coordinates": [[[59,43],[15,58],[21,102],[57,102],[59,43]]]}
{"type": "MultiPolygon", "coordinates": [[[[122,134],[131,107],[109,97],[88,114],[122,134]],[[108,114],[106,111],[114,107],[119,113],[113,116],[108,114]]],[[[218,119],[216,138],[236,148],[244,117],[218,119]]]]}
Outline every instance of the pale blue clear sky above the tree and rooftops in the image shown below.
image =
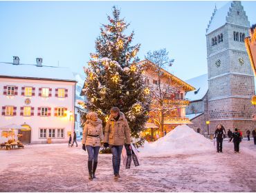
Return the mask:
{"type": "MultiPolygon", "coordinates": [[[[111,7],[135,31],[138,53],[167,48],[175,59],[170,72],[187,80],[207,73],[205,28],[215,3],[228,1],[0,1],[0,61],[68,66],[83,73],[82,66],[94,52],[100,23],[107,23],[111,7]]],[[[250,24],[256,23],[256,1],[242,1],[250,24]]]]}

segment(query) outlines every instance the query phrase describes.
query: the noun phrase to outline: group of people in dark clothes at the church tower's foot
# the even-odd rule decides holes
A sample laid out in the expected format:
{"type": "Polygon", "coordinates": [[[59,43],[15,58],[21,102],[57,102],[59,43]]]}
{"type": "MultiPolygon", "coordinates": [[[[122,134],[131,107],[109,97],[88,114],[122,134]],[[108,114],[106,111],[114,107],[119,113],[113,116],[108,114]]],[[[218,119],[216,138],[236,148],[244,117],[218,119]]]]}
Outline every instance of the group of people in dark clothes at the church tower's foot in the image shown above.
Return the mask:
{"type": "MultiPolygon", "coordinates": [[[[248,137],[248,141],[250,141],[250,131],[248,130],[246,134],[248,137]]],[[[253,130],[252,134],[253,134],[254,144],[256,145],[255,130],[253,130]]],[[[214,132],[214,137],[213,137],[214,139],[216,138],[216,141],[217,141],[217,153],[219,152],[222,153],[222,143],[225,137],[226,137],[225,128],[221,124],[217,125],[217,128],[214,132]]],[[[230,143],[233,140],[235,153],[239,153],[239,144],[241,143],[241,139],[242,139],[242,133],[237,128],[235,128],[234,132],[231,132],[231,130],[228,130],[228,143],[230,143]]]]}

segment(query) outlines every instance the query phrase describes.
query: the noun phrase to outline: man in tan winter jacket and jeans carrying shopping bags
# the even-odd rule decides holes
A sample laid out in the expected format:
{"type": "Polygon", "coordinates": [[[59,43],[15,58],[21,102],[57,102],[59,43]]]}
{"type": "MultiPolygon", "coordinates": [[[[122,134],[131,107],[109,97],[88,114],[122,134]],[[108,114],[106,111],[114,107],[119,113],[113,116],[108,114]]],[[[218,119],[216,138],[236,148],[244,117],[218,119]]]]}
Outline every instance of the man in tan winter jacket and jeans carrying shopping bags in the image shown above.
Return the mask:
{"type": "Polygon", "coordinates": [[[110,117],[104,130],[104,147],[111,148],[114,178],[120,178],[122,147],[131,150],[130,130],[125,114],[116,107],[111,108],[110,117]]]}

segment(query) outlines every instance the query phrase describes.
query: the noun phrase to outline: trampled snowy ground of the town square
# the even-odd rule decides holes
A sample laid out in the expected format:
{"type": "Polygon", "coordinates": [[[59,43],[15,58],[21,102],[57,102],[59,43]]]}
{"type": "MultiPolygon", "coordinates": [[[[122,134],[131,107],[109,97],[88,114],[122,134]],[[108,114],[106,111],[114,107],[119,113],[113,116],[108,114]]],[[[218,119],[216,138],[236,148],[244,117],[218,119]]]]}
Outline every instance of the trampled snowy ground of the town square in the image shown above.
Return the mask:
{"type": "Polygon", "coordinates": [[[113,179],[111,155],[100,154],[97,179],[88,180],[87,153],[66,144],[26,145],[0,151],[0,192],[256,192],[256,145],[232,143],[212,150],[140,156],[140,166],[122,167],[113,179]]]}

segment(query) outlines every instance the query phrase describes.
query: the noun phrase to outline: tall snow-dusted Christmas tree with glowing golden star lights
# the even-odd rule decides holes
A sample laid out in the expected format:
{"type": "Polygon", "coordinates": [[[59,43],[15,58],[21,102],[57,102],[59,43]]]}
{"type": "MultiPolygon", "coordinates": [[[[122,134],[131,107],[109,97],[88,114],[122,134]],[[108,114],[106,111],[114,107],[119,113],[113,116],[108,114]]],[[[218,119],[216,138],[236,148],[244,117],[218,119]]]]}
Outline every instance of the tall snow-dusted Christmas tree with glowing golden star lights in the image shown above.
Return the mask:
{"type": "MultiPolygon", "coordinates": [[[[118,107],[131,129],[131,136],[139,133],[149,118],[150,92],[143,76],[144,67],[138,65],[136,54],[140,44],[131,45],[134,32],[126,35],[129,26],[120,19],[120,10],[113,7],[109,24],[102,25],[91,53],[89,68],[84,68],[86,81],[82,92],[86,95],[86,108],[98,113],[103,125],[109,119],[110,109],[118,107]]],[[[84,116],[82,116],[84,123],[84,116]]]]}

